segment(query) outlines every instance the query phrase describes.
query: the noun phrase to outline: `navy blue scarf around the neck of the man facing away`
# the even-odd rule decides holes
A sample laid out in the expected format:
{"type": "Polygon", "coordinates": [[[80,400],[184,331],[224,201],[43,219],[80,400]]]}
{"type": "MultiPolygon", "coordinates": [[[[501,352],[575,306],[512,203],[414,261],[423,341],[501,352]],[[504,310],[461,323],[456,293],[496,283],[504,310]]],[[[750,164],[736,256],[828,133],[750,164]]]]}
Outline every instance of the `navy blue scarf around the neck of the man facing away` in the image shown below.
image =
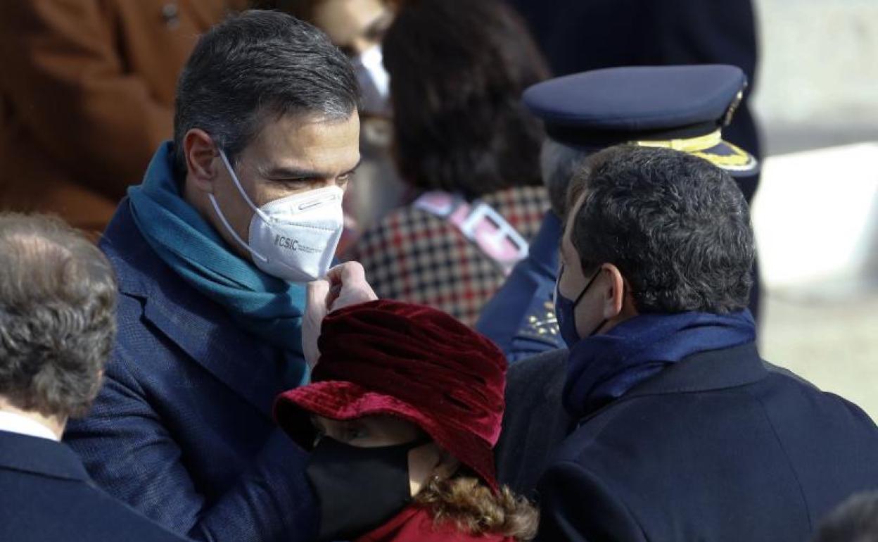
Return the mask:
{"type": "Polygon", "coordinates": [[[570,349],[564,406],[581,418],[697,352],[752,343],[749,310],[732,314],[641,314],[570,349]]]}

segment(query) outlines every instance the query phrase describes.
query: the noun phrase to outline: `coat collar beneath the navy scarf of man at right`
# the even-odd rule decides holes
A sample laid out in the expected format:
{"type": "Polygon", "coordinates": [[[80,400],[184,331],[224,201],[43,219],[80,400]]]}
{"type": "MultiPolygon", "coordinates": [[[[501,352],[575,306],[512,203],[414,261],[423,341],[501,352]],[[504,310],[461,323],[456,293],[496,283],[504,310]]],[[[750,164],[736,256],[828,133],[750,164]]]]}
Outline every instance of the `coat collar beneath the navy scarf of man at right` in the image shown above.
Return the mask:
{"type": "Polygon", "coordinates": [[[637,397],[707,392],[745,386],[766,378],[768,372],[766,363],[759,358],[756,343],[698,352],[633,387],[619,399],[582,418],[579,424],[587,422],[615,405],[637,397]]]}

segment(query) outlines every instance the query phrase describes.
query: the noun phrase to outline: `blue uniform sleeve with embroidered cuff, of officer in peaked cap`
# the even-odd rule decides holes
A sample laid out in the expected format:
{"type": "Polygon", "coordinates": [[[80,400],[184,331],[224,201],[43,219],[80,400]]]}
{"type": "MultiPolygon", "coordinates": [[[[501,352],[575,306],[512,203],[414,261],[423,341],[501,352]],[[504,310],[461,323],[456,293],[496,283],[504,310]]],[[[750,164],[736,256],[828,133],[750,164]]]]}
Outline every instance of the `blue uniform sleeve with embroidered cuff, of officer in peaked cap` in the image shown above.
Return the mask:
{"type": "Polygon", "coordinates": [[[562,230],[558,216],[547,212],[528,257],[515,264],[479,314],[476,330],[497,343],[509,362],[565,348],[554,298],[562,230]]]}

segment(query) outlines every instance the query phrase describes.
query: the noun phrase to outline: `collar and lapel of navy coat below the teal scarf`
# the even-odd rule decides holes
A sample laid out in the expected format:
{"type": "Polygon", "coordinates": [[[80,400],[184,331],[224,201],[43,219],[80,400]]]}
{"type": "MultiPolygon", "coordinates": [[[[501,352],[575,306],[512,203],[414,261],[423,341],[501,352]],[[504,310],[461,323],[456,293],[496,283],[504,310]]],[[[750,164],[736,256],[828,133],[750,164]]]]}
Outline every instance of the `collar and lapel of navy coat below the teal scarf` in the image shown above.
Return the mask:
{"type": "Polygon", "coordinates": [[[277,379],[275,360],[270,359],[272,350],[236,326],[223,307],[164,264],[134,224],[128,199],[119,205],[100,248],[116,269],[119,291],[142,300],[148,322],[227,387],[271,416],[274,397],[284,388],[277,379]]]}

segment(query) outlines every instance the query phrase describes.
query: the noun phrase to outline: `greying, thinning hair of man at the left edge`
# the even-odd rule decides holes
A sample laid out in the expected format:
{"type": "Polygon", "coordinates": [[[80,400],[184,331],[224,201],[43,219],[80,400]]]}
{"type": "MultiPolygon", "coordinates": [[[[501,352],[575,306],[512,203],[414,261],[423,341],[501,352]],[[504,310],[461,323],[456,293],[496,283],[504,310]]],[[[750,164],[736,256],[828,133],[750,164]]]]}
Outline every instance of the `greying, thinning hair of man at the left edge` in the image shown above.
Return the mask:
{"type": "Polygon", "coordinates": [[[0,213],[0,395],[43,416],[81,416],[116,336],[111,264],[61,220],[0,213]]]}

